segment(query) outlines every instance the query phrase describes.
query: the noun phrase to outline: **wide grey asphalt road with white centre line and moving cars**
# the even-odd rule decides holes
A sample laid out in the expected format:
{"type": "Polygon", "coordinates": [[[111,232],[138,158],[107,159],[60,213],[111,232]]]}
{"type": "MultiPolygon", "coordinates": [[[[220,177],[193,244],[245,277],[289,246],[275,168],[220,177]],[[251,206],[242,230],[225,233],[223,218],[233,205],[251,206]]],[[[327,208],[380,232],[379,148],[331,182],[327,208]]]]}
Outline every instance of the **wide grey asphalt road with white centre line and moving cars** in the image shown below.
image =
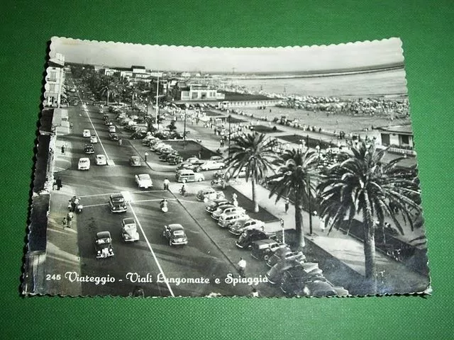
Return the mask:
{"type": "MultiPolygon", "coordinates": [[[[117,126],[123,140],[109,140],[109,132],[99,108],[72,106],[68,108],[73,128],[69,135],[62,137],[71,154],[69,169],[59,172],[63,183],[71,186],[72,192],[81,198],[84,210],[77,215],[77,243],[79,246],[80,276],[104,278],[104,284],[82,282],[82,295],[123,295],[127,296],[140,285],[147,296],[204,296],[215,292],[222,295],[248,295],[248,283],[233,285],[226,278],[236,273],[235,263],[240,256],[249,262],[247,251],[237,249],[233,235],[219,228],[204,210],[204,203],[195,199],[197,188],[209,186],[214,171],[206,173],[206,181],[190,185],[191,194],[182,199],[172,192],[162,191],[162,181],[168,177],[175,181],[175,166],[168,166],[149,152],[148,166],[129,166],[133,155],[143,157],[147,149],[141,141],[128,140],[128,133],[117,126]],[[96,134],[99,142],[94,144],[94,154],[84,154],[88,138],[82,131],[89,129],[96,134]],[[96,166],[96,154],[105,154],[110,166],[96,166]],[[88,171],[78,171],[80,157],[89,157],[92,166],[88,171]],[[140,190],[134,180],[135,174],[150,174],[153,188],[140,190]],[[111,193],[122,192],[128,199],[128,211],[110,212],[108,199],[111,193]],[[169,200],[170,211],[159,209],[162,198],[169,200]],[[134,217],[138,224],[140,240],[126,243],[121,237],[121,220],[134,217]],[[186,246],[169,246],[162,237],[164,225],[180,223],[187,233],[186,246]],[[115,256],[96,259],[94,237],[97,232],[109,231],[115,256]],[[145,282],[140,282],[142,278],[145,282]],[[217,280],[216,280],[217,279],[217,280]],[[180,282],[178,282],[180,280],[180,282]],[[184,282],[189,281],[189,283],[184,282]]],[[[114,115],[111,114],[111,118],[114,115]]],[[[179,184],[172,183],[171,191],[177,192],[179,184]]],[[[50,212],[52,214],[52,211],[50,212]]],[[[250,276],[264,276],[265,263],[253,263],[250,276]]],[[[74,274],[75,275],[75,274],[74,274]]],[[[264,295],[279,295],[279,290],[267,283],[260,284],[264,295]]]]}

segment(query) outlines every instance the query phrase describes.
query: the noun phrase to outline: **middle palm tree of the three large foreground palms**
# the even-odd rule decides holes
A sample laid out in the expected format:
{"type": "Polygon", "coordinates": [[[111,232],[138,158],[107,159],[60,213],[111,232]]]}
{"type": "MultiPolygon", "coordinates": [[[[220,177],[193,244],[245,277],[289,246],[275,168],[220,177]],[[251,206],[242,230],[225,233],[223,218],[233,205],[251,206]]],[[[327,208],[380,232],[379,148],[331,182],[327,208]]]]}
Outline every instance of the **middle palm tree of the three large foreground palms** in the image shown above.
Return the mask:
{"type": "Polygon", "coordinates": [[[295,229],[298,246],[301,248],[305,246],[301,212],[303,206],[309,205],[309,200],[314,198],[314,181],[311,182],[309,176],[316,175],[319,154],[309,150],[302,152],[301,149],[286,150],[274,163],[280,167],[277,174],[267,178],[275,180],[270,186],[270,197],[276,195],[277,203],[281,198],[294,196],[295,229]]]}

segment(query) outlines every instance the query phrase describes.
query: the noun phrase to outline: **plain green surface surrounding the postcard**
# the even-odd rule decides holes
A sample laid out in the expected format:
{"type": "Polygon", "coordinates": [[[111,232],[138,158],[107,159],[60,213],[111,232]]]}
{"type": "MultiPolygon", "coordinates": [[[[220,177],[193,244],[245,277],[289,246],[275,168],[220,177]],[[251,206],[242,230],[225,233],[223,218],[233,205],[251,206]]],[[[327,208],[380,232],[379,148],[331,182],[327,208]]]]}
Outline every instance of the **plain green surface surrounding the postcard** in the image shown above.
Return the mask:
{"type": "MultiPolygon", "coordinates": [[[[453,1],[4,1],[0,10],[2,339],[452,339],[453,1]],[[19,296],[52,35],[192,46],[404,42],[431,297],[19,296]]],[[[184,56],[182,56],[184,57],[184,56]]]]}

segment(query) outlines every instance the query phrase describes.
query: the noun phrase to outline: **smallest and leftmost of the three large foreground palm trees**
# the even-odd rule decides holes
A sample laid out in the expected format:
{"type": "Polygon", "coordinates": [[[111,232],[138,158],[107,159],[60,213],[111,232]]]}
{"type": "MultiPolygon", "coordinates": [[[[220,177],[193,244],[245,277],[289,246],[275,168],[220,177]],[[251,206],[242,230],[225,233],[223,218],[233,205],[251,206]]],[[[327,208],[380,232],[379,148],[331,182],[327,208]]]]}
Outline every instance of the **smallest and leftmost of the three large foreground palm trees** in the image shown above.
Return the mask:
{"type": "Polygon", "coordinates": [[[234,144],[229,146],[230,156],[226,159],[227,171],[232,169],[232,177],[236,177],[245,168],[246,181],[252,182],[254,212],[258,212],[256,186],[266,178],[267,171],[272,169],[272,161],[277,158],[273,148],[278,142],[275,138],[267,138],[263,133],[236,137],[232,142],[234,144]]]}

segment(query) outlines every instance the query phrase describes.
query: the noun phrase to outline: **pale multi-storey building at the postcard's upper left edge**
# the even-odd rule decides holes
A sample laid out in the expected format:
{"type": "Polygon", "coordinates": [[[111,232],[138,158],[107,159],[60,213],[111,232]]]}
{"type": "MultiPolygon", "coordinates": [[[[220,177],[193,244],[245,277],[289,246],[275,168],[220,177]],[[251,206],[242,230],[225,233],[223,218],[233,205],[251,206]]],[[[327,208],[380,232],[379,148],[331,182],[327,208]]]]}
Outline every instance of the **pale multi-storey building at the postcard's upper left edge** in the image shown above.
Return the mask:
{"type": "Polygon", "coordinates": [[[65,56],[56,53],[48,62],[44,86],[45,107],[59,107],[62,98],[66,98],[65,89],[65,56]]]}

